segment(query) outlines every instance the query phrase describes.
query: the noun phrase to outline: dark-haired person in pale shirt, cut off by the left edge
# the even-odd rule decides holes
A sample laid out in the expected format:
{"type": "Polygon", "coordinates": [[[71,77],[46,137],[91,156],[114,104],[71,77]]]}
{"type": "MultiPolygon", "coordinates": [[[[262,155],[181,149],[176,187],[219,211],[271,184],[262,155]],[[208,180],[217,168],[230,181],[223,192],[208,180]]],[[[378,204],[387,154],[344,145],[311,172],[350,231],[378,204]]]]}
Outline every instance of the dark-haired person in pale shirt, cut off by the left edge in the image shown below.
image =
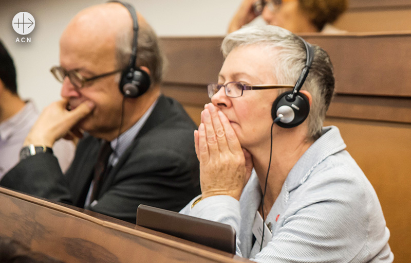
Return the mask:
{"type": "MultiPolygon", "coordinates": [[[[18,96],[14,62],[0,41],[0,181],[18,163],[24,139],[38,116],[34,103],[18,96]]],[[[74,144],[65,139],[53,145],[63,171],[70,166],[74,150],[74,144]]]]}

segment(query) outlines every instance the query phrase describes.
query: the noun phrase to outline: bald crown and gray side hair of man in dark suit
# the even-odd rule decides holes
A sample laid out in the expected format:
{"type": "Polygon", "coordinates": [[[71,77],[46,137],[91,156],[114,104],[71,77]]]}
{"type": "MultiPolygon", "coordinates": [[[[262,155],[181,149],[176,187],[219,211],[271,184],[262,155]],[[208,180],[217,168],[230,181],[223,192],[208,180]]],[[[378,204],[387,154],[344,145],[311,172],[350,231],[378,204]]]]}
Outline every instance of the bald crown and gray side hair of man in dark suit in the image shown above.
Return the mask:
{"type": "MultiPolygon", "coordinates": [[[[152,83],[159,84],[164,71],[164,57],[158,38],[143,16],[138,13],[137,17],[136,67],[147,67],[152,83]]],[[[105,3],[86,8],[74,16],[62,34],[60,45],[78,41],[76,44],[84,49],[99,49],[100,55],[109,57],[109,60],[113,57],[117,68],[126,68],[132,52],[133,34],[133,19],[127,8],[119,3],[105,3]]]]}

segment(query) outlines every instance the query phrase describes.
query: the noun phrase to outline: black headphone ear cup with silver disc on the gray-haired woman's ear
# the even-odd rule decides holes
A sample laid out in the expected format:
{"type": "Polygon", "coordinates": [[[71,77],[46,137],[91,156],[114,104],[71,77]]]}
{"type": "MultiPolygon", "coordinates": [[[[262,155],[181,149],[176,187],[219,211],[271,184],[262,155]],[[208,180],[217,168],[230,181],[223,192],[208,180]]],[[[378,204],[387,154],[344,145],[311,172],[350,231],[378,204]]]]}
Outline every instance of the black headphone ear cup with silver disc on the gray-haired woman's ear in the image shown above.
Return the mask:
{"type": "Polygon", "coordinates": [[[277,122],[279,127],[293,128],[303,123],[310,112],[310,103],[306,95],[298,92],[294,101],[290,101],[287,95],[292,95],[292,91],[280,94],[271,107],[271,117],[273,120],[282,114],[283,117],[277,122]]]}

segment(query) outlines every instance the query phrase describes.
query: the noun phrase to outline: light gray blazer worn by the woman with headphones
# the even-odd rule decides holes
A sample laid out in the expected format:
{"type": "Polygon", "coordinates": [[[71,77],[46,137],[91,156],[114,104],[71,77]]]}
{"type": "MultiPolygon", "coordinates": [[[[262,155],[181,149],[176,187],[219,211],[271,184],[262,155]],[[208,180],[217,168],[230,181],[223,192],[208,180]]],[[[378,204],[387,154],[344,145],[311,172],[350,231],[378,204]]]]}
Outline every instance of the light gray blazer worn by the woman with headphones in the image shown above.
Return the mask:
{"type": "Polygon", "coordinates": [[[214,196],[180,213],[232,225],[237,255],[257,262],[393,262],[376,192],[345,147],[337,127],[323,129],[288,174],[266,220],[272,239],[261,251],[252,234],[261,201],[255,171],[240,201],[214,196]]]}

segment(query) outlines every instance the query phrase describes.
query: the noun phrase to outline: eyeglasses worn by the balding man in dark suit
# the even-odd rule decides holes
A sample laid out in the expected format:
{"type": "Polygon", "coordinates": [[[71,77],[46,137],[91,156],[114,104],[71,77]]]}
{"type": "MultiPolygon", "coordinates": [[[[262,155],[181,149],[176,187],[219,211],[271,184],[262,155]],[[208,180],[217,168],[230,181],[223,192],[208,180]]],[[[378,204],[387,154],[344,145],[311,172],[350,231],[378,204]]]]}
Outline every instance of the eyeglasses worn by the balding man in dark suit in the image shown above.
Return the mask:
{"type": "Polygon", "coordinates": [[[66,69],[64,69],[63,67],[60,67],[60,66],[53,66],[50,69],[50,72],[53,74],[55,79],[57,79],[59,82],[63,83],[64,79],[66,77],[68,77],[71,84],[73,84],[75,87],[77,87],[77,89],[80,89],[81,87],[83,87],[86,82],[89,82],[91,80],[96,80],[96,79],[99,79],[99,78],[103,78],[103,77],[106,77],[106,76],[110,76],[110,75],[116,74],[116,73],[121,72],[121,71],[122,71],[122,69],[117,69],[116,71],[104,73],[104,74],[97,75],[97,76],[94,76],[94,77],[91,77],[91,78],[86,78],[86,77],[83,77],[77,71],[77,69],[73,69],[72,71],[66,71],[66,69]]]}

